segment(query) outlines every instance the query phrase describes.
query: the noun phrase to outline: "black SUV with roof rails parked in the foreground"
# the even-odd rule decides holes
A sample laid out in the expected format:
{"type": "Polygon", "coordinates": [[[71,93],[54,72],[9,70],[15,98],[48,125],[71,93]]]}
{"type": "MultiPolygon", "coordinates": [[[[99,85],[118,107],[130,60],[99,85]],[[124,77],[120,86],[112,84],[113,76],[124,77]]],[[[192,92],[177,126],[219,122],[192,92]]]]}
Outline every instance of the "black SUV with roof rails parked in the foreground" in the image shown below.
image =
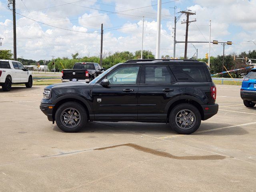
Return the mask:
{"type": "Polygon", "coordinates": [[[64,132],[77,132],[90,120],[169,122],[179,134],[191,134],[218,112],[215,100],[205,62],[128,60],[90,83],[47,86],[40,109],[64,132]]]}

